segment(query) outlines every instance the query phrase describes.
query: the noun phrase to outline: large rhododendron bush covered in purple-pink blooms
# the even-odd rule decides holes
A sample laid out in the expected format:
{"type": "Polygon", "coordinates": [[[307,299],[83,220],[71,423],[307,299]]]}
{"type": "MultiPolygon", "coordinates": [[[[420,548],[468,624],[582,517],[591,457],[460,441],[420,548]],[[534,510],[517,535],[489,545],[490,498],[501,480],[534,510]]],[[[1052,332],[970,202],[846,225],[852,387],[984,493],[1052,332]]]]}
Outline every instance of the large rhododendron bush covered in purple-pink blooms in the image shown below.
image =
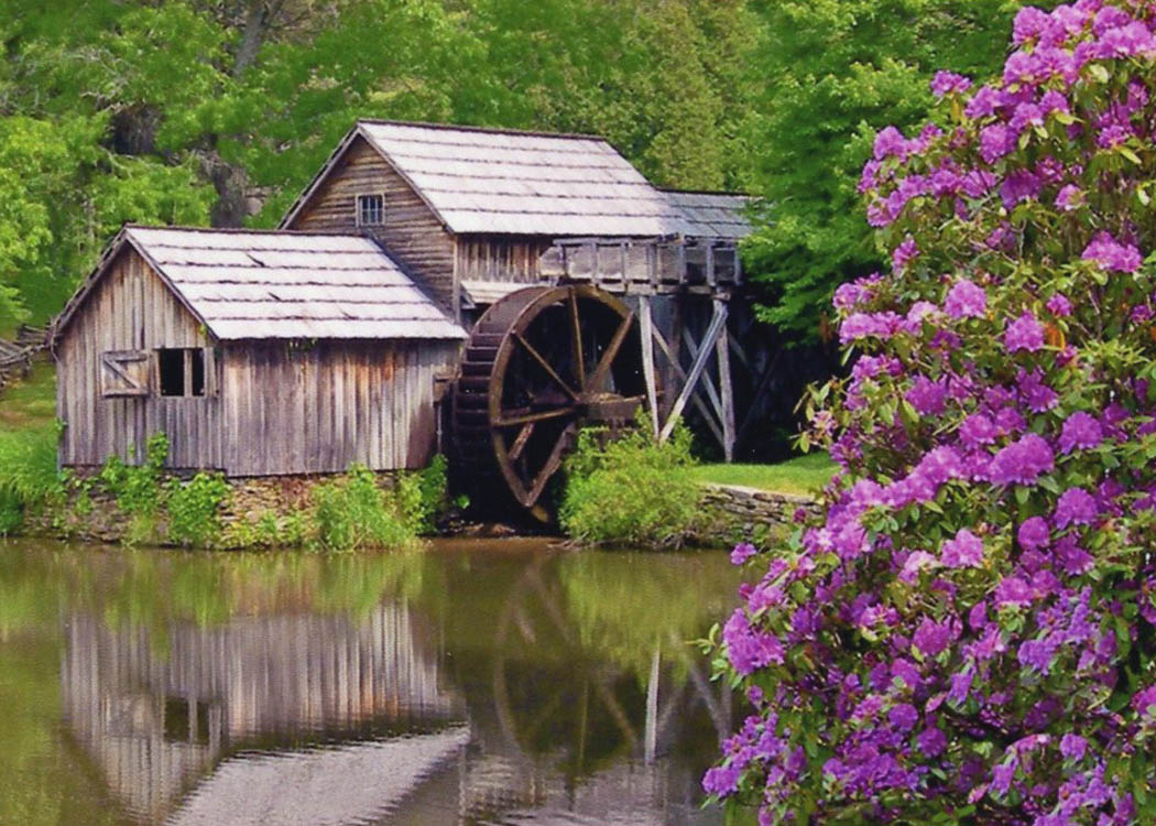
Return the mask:
{"type": "Polygon", "coordinates": [[[1023,9],[860,190],[842,465],[746,587],[754,714],[704,777],[761,824],[1156,823],[1156,2],[1023,9]]]}

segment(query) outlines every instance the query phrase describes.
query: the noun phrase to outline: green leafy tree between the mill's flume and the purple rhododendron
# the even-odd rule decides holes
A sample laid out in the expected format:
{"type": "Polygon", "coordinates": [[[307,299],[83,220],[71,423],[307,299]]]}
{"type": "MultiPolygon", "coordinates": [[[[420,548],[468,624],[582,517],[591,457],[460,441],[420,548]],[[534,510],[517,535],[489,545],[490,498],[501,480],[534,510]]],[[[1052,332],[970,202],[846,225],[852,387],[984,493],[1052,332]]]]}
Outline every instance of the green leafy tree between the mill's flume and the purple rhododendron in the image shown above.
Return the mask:
{"type": "MultiPolygon", "coordinates": [[[[1039,5],[1039,3],[1036,3],[1039,5]]],[[[1046,3],[1045,3],[1046,5],[1046,3]]],[[[1054,5],[1054,3],[1053,3],[1054,5]]],[[[926,119],[935,68],[985,78],[1001,65],[1016,0],[808,0],[757,3],[763,99],[746,124],[765,198],[747,242],[762,316],[827,338],[835,287],[881,266],[855,182],[872,124],[926,119]]]]}

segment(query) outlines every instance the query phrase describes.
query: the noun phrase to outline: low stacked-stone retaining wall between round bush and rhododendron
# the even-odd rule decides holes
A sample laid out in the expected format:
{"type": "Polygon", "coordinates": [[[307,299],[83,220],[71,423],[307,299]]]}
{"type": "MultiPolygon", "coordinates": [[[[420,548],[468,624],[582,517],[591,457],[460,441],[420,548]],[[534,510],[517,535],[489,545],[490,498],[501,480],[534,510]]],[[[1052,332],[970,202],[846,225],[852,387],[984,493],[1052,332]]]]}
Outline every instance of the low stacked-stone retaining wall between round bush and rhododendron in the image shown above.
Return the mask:
{"type": "Polygon", "coordinates": [[[704,507],[711,512],[709,540],[734,543],[761,534],[785,533],[818,512],[810,496],[772,493],[741,485],[706,485],[704,507]]]}

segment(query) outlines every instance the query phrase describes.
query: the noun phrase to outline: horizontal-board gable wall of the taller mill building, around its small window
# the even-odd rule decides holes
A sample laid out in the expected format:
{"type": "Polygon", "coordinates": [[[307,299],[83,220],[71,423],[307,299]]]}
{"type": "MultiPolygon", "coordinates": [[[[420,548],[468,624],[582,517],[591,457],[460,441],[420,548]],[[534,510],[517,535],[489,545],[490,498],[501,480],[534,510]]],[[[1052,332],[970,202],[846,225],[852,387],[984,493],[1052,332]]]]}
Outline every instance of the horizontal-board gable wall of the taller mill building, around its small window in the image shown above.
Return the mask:
{"type": "Polygon", "coordinates": [[[371,233],[443,309],[458,319],[454,239],[380,153],[356,139],[286,229],[371,233]],[[357,226],[357,196],[385,196],[385,223],[357,226]]]}

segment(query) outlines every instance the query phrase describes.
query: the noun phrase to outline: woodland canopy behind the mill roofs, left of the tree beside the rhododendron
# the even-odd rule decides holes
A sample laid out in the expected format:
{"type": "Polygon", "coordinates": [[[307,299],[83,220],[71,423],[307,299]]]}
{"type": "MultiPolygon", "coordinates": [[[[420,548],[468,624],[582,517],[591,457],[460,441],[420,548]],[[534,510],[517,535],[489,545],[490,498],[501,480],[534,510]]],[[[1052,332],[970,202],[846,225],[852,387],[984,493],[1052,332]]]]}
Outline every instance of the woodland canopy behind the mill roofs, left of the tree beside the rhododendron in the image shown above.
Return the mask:
{"type": "Polygon", "coordinates": [[[596,132],[736,186],[741,0],[12,0],[0,327],[60,309],[125,221],[272,226],[358,117],[596,132]]]}

